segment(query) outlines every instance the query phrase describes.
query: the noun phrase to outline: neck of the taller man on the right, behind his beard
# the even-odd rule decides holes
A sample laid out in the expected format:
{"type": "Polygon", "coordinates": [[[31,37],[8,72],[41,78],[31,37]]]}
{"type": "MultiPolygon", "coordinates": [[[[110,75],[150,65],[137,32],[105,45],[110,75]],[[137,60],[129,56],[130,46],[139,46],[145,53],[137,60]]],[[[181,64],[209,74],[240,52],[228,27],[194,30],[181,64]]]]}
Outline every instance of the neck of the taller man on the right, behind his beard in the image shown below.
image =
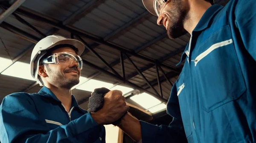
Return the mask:
{"type": "Polygon", "coordinates": [[[190,1],[190,9],[188,13],[188,19],[184,22],[184,29],[192,34],[199,20],[204,15],[205,11],[212,6],[205,0],[193,0],[190,1]]]}

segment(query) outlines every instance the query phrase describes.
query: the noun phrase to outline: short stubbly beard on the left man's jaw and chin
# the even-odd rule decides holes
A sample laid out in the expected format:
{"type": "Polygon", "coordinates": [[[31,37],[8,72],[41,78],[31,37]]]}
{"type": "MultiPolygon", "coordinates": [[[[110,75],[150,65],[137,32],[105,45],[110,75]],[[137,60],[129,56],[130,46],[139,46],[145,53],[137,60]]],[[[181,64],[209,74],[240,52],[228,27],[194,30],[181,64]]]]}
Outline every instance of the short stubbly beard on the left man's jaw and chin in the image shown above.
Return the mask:
{"type": "Polygon", "coordinates": [[[48,68],[48,73],[50,75],[49,78],[50,81],[52,81],[52,84],[58,87],[71,89],[73,86],[79,84],[79,78],[77,77],[67,79],[67,77],[64,77],[61,72],[52,70],[50,68],[48,68]]]}

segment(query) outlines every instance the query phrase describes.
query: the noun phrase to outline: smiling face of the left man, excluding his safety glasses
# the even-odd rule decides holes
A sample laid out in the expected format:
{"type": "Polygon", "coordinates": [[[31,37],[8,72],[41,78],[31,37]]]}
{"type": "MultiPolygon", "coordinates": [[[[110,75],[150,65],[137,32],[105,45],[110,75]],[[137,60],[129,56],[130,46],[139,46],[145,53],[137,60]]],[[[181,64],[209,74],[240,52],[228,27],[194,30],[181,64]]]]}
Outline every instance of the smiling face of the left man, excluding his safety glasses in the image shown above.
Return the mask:
{"type": "MultiPolygon", "coordinates": [[[[58,48],[52,51],[52,53],[60,52],[76,54],[76,52],[69,47],[58,48]]],[[[81,69],[76,62],[72,62],[72,64],[69,65],[47,64],[39,66],[38,73],[45,85],[47,82],[47,84],[52,84],[56,87],[71,89],[76,84],[79,84],[81,69]]]]}

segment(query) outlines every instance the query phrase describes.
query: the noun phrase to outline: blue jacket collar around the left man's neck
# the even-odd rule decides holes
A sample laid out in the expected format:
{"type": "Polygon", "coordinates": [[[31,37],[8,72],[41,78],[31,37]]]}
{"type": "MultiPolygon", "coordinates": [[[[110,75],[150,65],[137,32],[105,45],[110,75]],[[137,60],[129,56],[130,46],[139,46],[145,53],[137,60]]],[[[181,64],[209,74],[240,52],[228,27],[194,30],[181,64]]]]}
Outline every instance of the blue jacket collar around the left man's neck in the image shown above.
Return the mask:
{"type": "MultiPolygon", "coordinates": [[[[59,103],[61,103],[60,100],[58,100],[58,98],[56,97],[56,95],[54,93],[52,93],[51,90],[49,90],[49,88],[47,87],[43,87],[39,92],[38,94],[40,95],[43,95],[45,97],[48,97],[48,98],[52,98],[54,101],[57,101],[59,103]]],[[[72,101],[71,101],[71,107],[79,107],[77,101],[76,101],[76,98],[74,97],[74,95],[72,95],[72,101]]]]}

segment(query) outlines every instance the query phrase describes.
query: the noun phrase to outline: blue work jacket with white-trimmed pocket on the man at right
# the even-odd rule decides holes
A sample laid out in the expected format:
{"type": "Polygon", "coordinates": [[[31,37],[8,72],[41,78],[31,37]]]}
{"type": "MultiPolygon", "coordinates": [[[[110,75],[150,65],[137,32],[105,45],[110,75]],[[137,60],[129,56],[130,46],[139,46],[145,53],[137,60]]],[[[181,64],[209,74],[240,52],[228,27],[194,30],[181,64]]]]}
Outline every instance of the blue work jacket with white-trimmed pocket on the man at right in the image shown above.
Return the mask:
{"type": "Polygon", "coordinates": [[[169,126],[141,121],[143,143],[256,143],[256,1],[207,9],[183,53],[169,126]]]}

